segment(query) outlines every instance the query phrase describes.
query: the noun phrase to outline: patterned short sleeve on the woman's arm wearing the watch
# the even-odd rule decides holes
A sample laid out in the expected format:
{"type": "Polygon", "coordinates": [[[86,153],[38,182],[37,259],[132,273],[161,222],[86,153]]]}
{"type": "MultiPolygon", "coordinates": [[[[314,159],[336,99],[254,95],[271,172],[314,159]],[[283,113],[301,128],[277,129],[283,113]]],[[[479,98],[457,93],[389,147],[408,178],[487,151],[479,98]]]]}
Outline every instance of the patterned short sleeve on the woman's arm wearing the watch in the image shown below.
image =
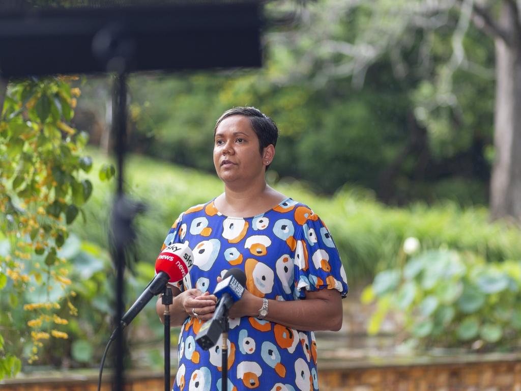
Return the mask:
{"type": "Polygon", "coordinates": [[[331,233],[318,215],[307,209],[305,221],[297,220],[294,251],[294,297],[305,291],[337,289],[342,298],[348,294],[348,281],[340,254],[331,233]]]}

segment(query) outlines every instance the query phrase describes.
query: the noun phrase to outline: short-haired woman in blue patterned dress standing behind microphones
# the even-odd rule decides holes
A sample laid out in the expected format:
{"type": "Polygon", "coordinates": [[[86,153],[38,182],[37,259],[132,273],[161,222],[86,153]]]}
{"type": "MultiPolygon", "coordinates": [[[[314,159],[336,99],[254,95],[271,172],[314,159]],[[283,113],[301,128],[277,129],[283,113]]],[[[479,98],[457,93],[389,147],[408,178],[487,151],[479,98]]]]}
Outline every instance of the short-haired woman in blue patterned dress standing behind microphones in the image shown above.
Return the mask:
{"type": "MultiPolygon", "coordinates": [[[[345,271],[328,229],[306,205],[266,184],[278,129],[254,107],[236,107],[214,129],[214,164],[225,191],[191,207],[164,247],[188,241],[194,266],[172,287],[172,325],[182,325],[175,390],[221,387],[219,342],[209,351],[194,337],[212,318],[217,282],[231,267],[246,274],[230,309],[230,390],[318,389],[314,331],[338,331],[345,271]]],[[[163,316],[158,299],[156,309],[163,316]]]]}

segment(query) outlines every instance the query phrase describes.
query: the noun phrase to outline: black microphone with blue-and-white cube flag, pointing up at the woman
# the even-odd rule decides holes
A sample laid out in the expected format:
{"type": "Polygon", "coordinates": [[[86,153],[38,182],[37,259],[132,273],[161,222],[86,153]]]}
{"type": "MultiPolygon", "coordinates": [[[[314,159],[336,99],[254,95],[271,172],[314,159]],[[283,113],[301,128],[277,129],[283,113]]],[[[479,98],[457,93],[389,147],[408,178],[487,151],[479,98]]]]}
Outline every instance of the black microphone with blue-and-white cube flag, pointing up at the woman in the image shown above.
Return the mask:
{"type": "Polygon", "coordinates": [[[219,301],[212,319],[201,326],[195,341],[204,350],[217,344],[219,336],[227,328],[228,310],[232,304],[240,300],[246,285],[246,275],[237,267],[226,272],[222,281],[215,287],[214,295],[219,301]]]}

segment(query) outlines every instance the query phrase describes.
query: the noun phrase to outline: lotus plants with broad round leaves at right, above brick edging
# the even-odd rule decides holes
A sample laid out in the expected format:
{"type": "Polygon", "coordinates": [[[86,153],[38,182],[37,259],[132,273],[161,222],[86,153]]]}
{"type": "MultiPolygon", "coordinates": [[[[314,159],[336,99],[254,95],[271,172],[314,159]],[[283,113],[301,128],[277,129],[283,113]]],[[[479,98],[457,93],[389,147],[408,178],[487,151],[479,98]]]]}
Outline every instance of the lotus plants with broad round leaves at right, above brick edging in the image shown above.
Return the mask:
{"type": "Polygon", "coordinates": [[[429,250],[379,273],[362,294],[376,300],[369,334],[394,313],[409,345],[513,349],[521,342],[521,263],[429,250]]]}

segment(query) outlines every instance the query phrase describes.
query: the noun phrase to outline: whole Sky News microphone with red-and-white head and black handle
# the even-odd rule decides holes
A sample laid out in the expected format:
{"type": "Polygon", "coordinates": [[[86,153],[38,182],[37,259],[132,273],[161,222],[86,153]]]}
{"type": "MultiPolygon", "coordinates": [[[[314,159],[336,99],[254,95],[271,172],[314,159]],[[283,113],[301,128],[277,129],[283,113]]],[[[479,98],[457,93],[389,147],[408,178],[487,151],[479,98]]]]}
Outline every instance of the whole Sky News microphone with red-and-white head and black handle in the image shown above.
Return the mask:
{"type": "Polygon", "coordinates": [[[188,243],[175,243],[166,247],[156,259],[156,276],[121,318],[121,326],[127,326],[146,304],[163,292],[167,283],[177,283],[188,274],[193,265],[193,254],[188,243]]]}

